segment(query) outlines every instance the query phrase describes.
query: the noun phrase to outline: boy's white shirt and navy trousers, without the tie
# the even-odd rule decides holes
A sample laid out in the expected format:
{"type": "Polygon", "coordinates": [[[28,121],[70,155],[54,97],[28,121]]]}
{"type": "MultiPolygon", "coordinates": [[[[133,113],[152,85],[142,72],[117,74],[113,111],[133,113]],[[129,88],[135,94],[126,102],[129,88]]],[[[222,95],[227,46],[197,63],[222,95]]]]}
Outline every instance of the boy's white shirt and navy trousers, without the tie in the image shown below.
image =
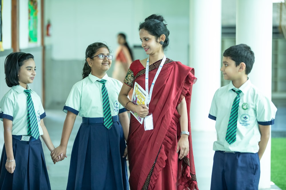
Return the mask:
{"type": "Polygon", "coordinates": [[[239,89],[229,85],[219,88],[212,99],[209,118],[216,121],[217,141],[212,170],[211,189],[258,189],[260,161],[259,125],[274,124],[277,108],[248,79],[239,89]],[[236,141],[225,138],[235,91],[241,90],[237,117],[236,141]]]}

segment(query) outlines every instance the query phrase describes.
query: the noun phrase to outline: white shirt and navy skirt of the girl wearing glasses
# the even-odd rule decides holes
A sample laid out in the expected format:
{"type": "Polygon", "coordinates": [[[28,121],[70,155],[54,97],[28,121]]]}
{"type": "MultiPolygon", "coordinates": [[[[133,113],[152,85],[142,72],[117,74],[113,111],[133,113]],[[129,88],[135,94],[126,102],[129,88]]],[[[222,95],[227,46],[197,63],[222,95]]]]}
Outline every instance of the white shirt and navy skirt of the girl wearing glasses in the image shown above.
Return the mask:
{"type": "Polygon", "coordinates": [[[108,91],[113,125],[103,124],[102,83],[89,74],[77,82],[69,93],[63,111],[82,117],[82,124],[72,148],[67,189],[129,189],[126,148],[118,114],[127,111],[119,102],[122,83],[108,77],[108,91]]]}

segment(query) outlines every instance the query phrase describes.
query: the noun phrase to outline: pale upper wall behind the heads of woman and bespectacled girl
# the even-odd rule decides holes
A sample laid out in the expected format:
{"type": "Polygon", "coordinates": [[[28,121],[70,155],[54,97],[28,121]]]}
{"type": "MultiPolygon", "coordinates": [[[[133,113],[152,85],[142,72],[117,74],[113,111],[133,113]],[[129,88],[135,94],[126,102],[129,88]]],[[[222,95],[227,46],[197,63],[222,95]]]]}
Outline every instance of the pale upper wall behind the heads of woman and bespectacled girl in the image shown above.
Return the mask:
{"type": "Polygon", "coordinates": [[[104,3],[94,0],[51,0],[45,3],[45,22],[51,20],[53,33],[46,41],[53,45],[53,59],[83,60],[86,47],[93,42],[106,42],[114,52],[118,46],[118,32],[126,33],[130,46],[141,45],[139,23],[149,15],[158,13],[164,16],[170,30],[167,57],[187,64],[188,5],[188,0],[180,3],[164,0],[108,0],[104,3]]]}

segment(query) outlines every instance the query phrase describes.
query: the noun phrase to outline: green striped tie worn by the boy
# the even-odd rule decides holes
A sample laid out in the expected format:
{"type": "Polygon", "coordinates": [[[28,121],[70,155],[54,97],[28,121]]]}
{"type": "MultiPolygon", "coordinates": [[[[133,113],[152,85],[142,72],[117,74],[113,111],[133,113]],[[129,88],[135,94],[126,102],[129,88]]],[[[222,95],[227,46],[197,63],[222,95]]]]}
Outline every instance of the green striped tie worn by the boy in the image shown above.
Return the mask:
{"type": "Polygon", "coordinates": [[[225,136],[225,140],[227,140],[229,144],[233,144],[236,141],[237,115],[240,101],[239,94],[241,93],[241,90],[235,91],[232,89],[232,91],[237,93],[237,95],[231,107],[231,116],[229,117],[229,124],[227,126],[227,135],[225,136]]]}

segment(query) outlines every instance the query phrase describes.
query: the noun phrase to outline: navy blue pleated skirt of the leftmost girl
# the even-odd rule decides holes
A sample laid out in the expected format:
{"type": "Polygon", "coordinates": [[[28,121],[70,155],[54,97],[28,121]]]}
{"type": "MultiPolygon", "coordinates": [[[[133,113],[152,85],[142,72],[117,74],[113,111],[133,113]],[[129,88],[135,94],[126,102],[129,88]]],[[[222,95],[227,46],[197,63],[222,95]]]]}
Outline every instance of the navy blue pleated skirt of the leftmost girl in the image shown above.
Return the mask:
{"type": "Polygon", "coordinates": [[[0,189],[51,189],[45,163],[42,142],[12,140],[13,154],[16,162],[14,173],[6,168],[6,149],[3,146],[0,162],[0,189]]]}

